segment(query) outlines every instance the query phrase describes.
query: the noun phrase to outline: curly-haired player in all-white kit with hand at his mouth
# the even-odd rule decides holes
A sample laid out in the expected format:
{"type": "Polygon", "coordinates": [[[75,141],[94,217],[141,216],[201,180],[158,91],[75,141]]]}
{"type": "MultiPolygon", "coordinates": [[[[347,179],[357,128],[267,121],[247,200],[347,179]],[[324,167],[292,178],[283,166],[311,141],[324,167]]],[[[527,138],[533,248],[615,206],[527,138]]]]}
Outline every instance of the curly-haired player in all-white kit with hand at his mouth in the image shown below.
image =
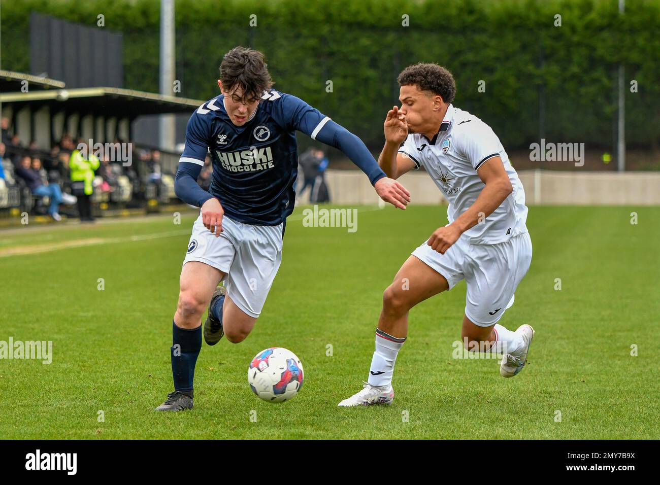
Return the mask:
{"type": "Polygon", "coordinates": [[[503,377],[522,370],[534,336],[530,325],[511,331],[498,323],[532,257],[525,192],[504,147],[486,123],[451,104],[456,87],[444,67],[413,65],[398,81],[401,108],[387,113],[378,164],[393,179],[423,166],[449,201],[449,224],[413,251],[385,290],[368,383],[339,406],[392,403],[409,310],[460,280],[463,342],[504,354],[503,377]]]}

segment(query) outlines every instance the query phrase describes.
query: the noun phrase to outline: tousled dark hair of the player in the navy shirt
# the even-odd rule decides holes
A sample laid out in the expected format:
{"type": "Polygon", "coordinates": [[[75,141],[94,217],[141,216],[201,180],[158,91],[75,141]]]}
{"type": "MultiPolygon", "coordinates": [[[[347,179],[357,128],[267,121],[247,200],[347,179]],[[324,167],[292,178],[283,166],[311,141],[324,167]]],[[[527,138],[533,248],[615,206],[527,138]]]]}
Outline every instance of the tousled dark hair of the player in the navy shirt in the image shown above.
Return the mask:
{"type": "Polygon", "coordinates": [[[220,81],[226,91],[242,87],[244,103],[260,99],[263,91],[273,86],[265,55],[242,46],[233,48],[222,58],[220,81]]]}

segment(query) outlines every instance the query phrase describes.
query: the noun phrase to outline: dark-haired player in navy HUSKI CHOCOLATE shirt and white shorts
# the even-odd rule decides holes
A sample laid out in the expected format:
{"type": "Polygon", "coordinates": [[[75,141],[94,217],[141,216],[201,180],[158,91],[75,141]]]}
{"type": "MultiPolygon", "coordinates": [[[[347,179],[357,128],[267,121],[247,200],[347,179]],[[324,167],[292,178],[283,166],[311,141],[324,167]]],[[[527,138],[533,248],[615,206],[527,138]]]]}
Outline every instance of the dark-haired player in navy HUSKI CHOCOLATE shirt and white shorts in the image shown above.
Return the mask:
{"type": "Polygon", "coordinates": [[[193,407],[201,315],[207,305],[203,334],[209,345],[223,335],[242,342],[261,313],[281,262],[286,217],[294,209],[296,130],[344,152],[384,201],[399,209],[410,201],[409,192],[385,176],[358,137],[299,98],[271,89],[272,84],[261,52],[234,48],[220,65],[222,94],[188,121],[174,188],[201,211],[183,261],[172,321],[174,392],[157,410],[193,407]],[[213,181],[207,192],[197,177],[209,151],[213,181]],[[222,280],[226,288],[218,286],[222,280]]]}

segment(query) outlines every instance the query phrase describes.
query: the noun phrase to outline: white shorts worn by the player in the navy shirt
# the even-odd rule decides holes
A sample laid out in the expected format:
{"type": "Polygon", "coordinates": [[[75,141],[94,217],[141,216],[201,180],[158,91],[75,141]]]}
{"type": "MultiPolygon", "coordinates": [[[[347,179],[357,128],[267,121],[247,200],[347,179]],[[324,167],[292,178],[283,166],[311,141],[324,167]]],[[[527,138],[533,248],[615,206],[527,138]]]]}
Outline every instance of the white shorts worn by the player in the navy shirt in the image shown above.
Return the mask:
{"type": "Polygon", "coordinates": [[[232,302],[251,317],[259,317],[282,262],[282,229],[282,224],[253,226],[224,215],[216,238],[199,214],[183,264],[200,261],[225,273],[232,302]]]}

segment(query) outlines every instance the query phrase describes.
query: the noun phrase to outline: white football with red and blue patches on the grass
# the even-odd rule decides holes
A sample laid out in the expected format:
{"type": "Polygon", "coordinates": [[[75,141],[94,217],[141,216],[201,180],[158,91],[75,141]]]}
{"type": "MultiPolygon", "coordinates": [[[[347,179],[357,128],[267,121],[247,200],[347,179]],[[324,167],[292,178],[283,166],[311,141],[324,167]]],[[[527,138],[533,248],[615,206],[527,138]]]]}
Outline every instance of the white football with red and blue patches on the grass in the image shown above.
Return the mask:
{"type": "Polygon", "coordinates": [[[300,391],[303,380],[302,362],[286,348],[262,350],[249,364],[249,387],[269,403],[284,403],[293,399],[300,391]]]}

